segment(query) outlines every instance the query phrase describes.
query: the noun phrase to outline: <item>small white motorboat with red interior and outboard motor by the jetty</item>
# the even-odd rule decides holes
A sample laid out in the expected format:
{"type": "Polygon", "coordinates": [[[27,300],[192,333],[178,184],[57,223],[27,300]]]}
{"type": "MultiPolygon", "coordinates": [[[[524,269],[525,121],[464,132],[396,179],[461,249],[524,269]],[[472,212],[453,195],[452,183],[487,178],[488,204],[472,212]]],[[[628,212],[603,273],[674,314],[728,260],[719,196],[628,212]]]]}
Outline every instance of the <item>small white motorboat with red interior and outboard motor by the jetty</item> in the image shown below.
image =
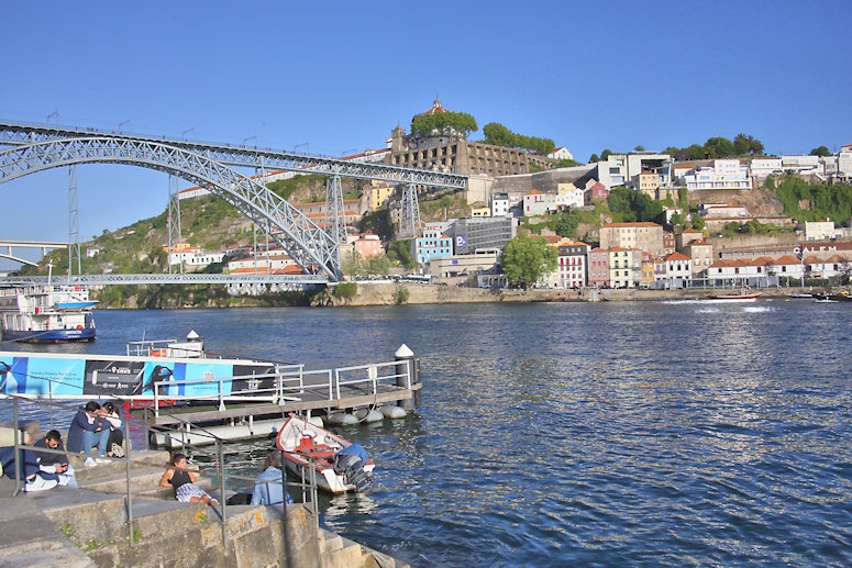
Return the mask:
{"type": "Polygon", "coordinates": [[[317,474],[317,487],[331,493],[366,491],[373,485],[373,459],[361,444],[312,422],[290,416],[275,437],[284,466],[297,477],[317,474]]]}

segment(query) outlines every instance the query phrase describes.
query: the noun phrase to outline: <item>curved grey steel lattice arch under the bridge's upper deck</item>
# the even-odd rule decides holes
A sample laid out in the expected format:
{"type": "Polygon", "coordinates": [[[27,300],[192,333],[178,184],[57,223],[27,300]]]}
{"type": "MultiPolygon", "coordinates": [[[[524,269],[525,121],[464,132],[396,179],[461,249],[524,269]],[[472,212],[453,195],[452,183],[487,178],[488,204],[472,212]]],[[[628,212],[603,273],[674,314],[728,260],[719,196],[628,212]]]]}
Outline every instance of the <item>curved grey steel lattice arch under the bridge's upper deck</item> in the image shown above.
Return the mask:
{"type": "Polygon", "coordinates": [[[153,138],[93,134],[64,138],[31,137],[0,149],[0,183],[75,164],[121,164],[174,174],[207,188],[248,216],[308,274],[342,277],[340,244],[275,192],[191,148],[153,138]]]}

